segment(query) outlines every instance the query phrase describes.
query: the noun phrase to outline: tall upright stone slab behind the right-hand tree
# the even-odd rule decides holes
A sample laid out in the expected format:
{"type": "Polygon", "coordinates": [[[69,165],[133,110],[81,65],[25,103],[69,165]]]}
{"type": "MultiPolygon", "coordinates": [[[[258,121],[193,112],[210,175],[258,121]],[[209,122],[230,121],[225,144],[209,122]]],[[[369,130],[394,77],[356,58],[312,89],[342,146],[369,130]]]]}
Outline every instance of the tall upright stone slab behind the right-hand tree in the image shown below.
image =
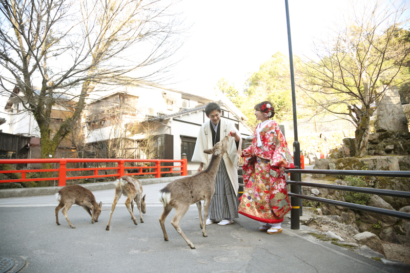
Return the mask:
{"type": "Polygon", "coordinates": [[[382,92],[383,96],[379,96],[376,101],[375,131],[408,132],[407,118],[401,106],[397,87],[380,86],[377,93],[382,92]]]}

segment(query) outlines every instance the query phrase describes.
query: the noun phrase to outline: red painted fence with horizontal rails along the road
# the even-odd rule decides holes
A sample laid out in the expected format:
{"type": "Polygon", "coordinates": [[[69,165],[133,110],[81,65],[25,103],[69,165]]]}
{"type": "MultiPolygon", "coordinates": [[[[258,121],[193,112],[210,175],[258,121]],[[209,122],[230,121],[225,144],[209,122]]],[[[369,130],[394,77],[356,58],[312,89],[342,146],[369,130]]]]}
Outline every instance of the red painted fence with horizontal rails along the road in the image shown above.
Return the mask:
{"type": "Polygon", "coordinates": [[[45,181],[45,180],[58,180],[58,186],[65,186],[67,180],[85,179],[85,178],[99,178],[99,177],[115,177],[119,178],[124,175],[155,175],[155,178],[160,178],[161,174],[180,173],[182,176],[188,175],[187,171],[187,159],[170,160],[170,159],[105,159],[105,158],[53,158],[53,159],[1,159],[0,164],[27,164],[27,163],[58,163],[58,169],[37,169],[37,170],[8,170],[0,171],[0,173],[20,173],[21,179],[7,179],[0,180],[0,183],[10,182],[30,182],[30,181],[45,181]],[[143,162],[143,163],[155,163],[155,166],[124,166],[125,162],[143,162]],[[181,163],[180,166],[161,166],[161,162],[177,162],[181,163]],[[89,167],[89,168],[70,168],[67,169],[67,163],[118,163],[116,167],[89,167]],[[180,171],[174,171],[173,169],[181,169],[180,171]],[[130,170],[138,170],[137,173],[126,173],[130,170]],[[142,173],[142,169],[150,169],[148,173],[142,173]],[[154,170],[151,170],[154,169],[154,170]],[[169,172],[163,172],[161,169],[170,169],[169,172]],[[98,171],[101,170],[117,170],[116,174],[103,174],[99,175],[98,171]],[[94,175],[86,176],[70,176],[67,177],[68,171],[94,171],[94,175]],[[58,177],[47,178],[29,178],[26,179],[27,173],[38,172],[58,172],[58,177]]]}

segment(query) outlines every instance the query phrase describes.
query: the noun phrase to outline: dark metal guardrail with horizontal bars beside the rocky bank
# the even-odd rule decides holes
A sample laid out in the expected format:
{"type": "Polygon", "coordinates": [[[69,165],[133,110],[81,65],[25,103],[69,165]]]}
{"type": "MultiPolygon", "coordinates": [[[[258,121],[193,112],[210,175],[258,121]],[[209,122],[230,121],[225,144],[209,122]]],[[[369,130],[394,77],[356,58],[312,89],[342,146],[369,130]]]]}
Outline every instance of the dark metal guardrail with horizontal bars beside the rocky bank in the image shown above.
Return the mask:
{"type": "MultiPolygon", "coordinates": [[[[290,174],[326,174],[326,175],[383,176],[383,177],[410,178],[410,172],[407,172],[407,171],[345,171],[345,170],[340,171],[340,170],[292,169],[292,170],[285,170],[285,172],[290,173],[290,174]]],[[[410,198],[410,192],[381,190],[377,188],[364,188],[364,187],[310,183],[310,182],[301,182],[301,181],[293,181],[293,180],[286,180],[286,183],[291,185],[291,193],[288,193],[288,195],[291,196],[292,199],[294,198],[297,199],[297,202],[295,200],[295,203],[298,203],[299,198],[300,198],[300,199],[306,199],[306,200],[316,201],[320,203],[343,206],[343,207],[347,207],[351,209],[357,209],[359,211],[377,213],[377,214],[410,220],[410,213],[397,212],[397,211],[391,211],[385,208],[365,206],[365,205],[359,205],[359,204],[354,204],[354,203],[348,203],[348,202],[342,202],[342,201],[330,200],[330,199],[325,199],[325,198],[302,195],[302,194],[299,194],[299,186],[313,186],[313,187],[321,187],[321,188],[330,188],[331,190],[340,190],[340,191],[366,193],[366,194],[377,194],[377,195],[385,195],[385,196],[393,196],[393,197],[401,197],[401,198],[410,198]]],[[[292,206],[293,213],[291,212],[291,229],[299,229],[299,225],[300,225],[299,224],[299,209],[301,209],[299,206],[298,207],[292,206]]]]}

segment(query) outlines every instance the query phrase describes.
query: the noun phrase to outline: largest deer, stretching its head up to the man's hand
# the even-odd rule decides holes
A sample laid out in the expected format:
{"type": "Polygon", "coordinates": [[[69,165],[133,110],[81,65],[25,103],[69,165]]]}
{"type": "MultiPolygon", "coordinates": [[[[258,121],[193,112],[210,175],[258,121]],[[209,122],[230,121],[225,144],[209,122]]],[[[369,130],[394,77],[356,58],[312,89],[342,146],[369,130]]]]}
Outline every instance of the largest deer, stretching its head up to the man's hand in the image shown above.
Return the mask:
{"type": "Polygon", "coordinates": [[[203,151],[206,154],[212,154],[211,162],[206,170],[200,171],[193,176],[184,177],[169,183],[159,191],[159,201],[163,204],[163,212],[159,218],[159,223],[163,232],[163,239],[168,241],[168,235],[165,230],[165,219],[172,211],[176,209],[174,218],[171,224],[176,229],[177,233],[187,242],[188,246],[195,249],[193,243],[188,239],[185,233],[179,226],[179,221],[188,212],[191,204],[196,204],[199,211],[199,226],[202,229],[202,236],[208,237],[206,233],[206,219],[208,217],[209,204],[215,193],[215,178],[219,169],[219,163],[222,160],[223,154],[226,153],[228,147],[228,138],[224,137],[217,142],[212,149],[203,151]],[[203,200],[202,221],[201,200],[203,200]]]}

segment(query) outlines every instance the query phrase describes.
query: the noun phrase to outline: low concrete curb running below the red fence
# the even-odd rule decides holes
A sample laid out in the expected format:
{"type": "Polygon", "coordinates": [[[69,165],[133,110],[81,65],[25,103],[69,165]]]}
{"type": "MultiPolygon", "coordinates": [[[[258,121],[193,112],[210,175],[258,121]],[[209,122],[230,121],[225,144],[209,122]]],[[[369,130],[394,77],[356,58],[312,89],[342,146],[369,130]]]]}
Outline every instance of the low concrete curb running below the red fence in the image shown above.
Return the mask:
{"type": "MultiPolygon", "coordinates": [[[[182,177],[183,176],[147,178],[147,179],[139,179],[139,182],[141,182],[141,185],[167,183],[167,182],[172,182],[182,177]]],[[[88,184],[80,184],[80,186],[83,186],[90,191],[102,191],[102,190],[109,190],[111,188],[114,188],[114,182],[115,181],[88,183],[88,184]]],[[[53,194],[58,193],[58,191],[61,190],[61,188],[62,187],[58,187],[58,186],[57,187],[8,188],[6,190],[0,190],[0,198],[53,195],[53,194]]]]}

